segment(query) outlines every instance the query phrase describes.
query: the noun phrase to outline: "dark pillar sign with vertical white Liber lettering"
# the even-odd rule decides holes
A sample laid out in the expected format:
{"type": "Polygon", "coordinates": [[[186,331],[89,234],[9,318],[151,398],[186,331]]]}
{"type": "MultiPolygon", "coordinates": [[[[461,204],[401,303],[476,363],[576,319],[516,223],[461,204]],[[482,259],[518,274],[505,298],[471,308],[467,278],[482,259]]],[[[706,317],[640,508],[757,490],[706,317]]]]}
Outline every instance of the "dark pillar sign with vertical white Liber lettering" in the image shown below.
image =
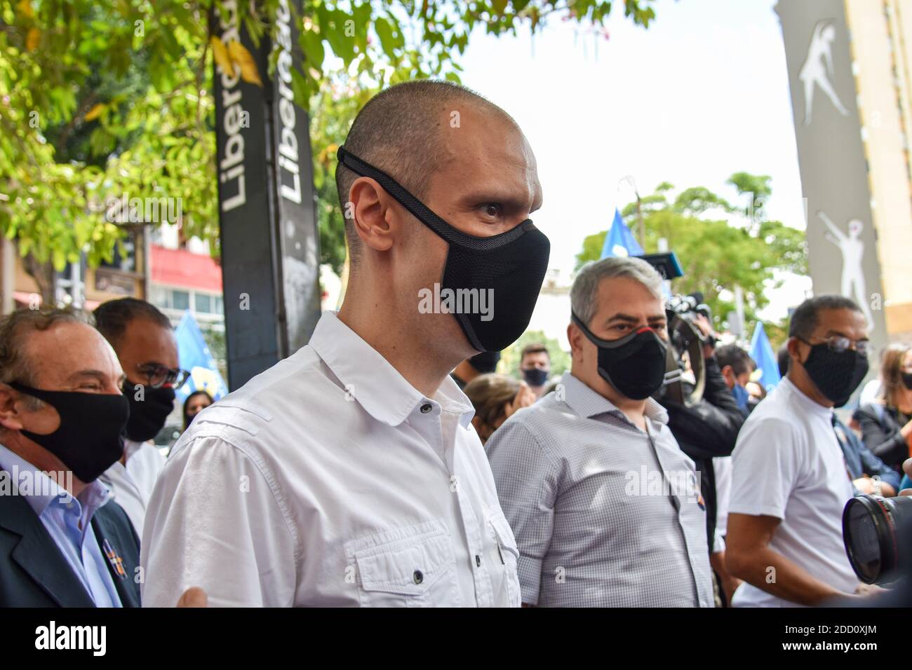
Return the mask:
{"type": "MultiPolygon", "coordinates": [[[[306,345],[320,314],[319,238],[306,110],[295,104],[292,69],[302,62],[300,0],[280,0],[275,41],[254,46],[239,0],[212,10],[212,35],[252,55],[262,87],[241,67],[215,65],[216,173],[222,240],[228,384],[237,388],[306,345]],[[275,73],[267,61],[275,56],[275,73]]],[[[231,48],[229,48],[231,51],[231,48]]]]}

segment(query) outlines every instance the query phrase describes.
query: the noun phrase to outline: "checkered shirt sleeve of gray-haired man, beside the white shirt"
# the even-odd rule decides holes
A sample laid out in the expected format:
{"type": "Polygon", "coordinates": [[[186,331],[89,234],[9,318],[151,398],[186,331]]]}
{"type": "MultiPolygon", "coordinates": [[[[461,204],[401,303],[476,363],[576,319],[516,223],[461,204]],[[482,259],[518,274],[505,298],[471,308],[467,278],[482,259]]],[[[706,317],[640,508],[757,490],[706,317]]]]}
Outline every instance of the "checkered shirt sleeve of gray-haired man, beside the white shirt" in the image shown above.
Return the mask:
{"type": "Polygon", "coordinates": [[[498,428],[487,450],[497,496],[519,548],[523,603],[537,604],[542,561],[554,530],[558,464],[517,420],[498,428]]]}

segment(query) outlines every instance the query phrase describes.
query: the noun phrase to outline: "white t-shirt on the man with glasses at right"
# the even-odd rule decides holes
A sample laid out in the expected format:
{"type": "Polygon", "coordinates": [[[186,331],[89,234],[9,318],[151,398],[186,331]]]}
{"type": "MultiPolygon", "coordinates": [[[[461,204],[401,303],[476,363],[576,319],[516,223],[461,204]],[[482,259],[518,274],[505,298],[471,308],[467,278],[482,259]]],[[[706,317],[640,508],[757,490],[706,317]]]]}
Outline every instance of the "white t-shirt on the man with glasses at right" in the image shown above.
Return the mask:
{"type": "MultiPolygon", "coordinates": [[[[833,430],[833,410],[787,378],[753,410],[732,453],[729,513],[782,519],[770,549],[845,593],[858,578],[845,555],[842,518],[852,482],[833,430]]],[[[735,607],[796,607],[744,582],[735,607]]]]}

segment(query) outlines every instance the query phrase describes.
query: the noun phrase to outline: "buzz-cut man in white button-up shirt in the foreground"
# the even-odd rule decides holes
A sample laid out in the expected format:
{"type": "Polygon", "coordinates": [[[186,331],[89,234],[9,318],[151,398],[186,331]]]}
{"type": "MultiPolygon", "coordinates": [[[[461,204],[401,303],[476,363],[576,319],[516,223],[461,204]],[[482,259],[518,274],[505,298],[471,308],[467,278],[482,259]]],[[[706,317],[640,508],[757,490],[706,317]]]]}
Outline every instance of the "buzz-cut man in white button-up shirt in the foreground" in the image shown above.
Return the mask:
{"type": "Polygon", "coordinates": [[[520,603],[449,373],[528,325],[548,257],[532,150],[500,108],[426,81],[368,102],[339,158],[345,303],[181,437],[146,516],[143,604],[192,586],[228,606],[520,603]]]}

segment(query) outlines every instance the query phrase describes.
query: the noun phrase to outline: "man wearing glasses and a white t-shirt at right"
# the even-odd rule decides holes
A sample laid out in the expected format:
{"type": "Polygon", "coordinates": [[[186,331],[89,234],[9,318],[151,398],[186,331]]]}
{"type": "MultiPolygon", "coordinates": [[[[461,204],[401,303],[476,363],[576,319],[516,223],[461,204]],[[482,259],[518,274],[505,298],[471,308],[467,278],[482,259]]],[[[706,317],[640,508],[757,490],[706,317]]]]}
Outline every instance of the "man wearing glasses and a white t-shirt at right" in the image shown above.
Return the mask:
{"type": "Polygon", "coordinates": [[[848,298],[816,296],[795,310],[787,344],[788,376],[732,454],[726,562],[744,580],[735,607],[817,605],[865,590],[843,545],[853,488],[833,413],[867,374],[865,316],[848,298]]]}

